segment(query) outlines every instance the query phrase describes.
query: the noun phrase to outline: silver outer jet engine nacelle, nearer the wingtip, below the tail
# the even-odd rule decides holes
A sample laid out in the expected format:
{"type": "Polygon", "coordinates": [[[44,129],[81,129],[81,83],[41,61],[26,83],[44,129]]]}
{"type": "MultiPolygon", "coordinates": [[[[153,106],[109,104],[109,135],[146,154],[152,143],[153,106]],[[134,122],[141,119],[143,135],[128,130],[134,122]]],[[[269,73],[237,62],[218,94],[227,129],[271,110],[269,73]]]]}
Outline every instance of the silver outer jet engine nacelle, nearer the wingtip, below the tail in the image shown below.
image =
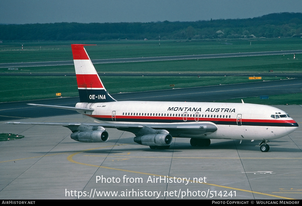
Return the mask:
{"type": "Polygon", "coordinates": [[[106,142],[108,136],[108,132],[104,130],[80,131],[70,135],[71,139],[78,142],[106,142]]]}

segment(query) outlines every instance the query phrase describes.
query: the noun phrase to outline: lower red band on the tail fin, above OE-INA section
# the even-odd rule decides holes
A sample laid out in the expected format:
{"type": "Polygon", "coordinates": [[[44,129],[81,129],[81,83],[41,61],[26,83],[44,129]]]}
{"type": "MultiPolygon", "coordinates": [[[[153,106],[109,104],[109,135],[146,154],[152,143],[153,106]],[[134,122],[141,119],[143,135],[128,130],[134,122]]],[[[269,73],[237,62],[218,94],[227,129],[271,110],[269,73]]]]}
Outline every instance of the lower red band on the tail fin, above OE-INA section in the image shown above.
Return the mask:
{"type": "Polygon", "coordinates": [[[78,88],[104,88],[97,74],[77,74],[78,88]]]}

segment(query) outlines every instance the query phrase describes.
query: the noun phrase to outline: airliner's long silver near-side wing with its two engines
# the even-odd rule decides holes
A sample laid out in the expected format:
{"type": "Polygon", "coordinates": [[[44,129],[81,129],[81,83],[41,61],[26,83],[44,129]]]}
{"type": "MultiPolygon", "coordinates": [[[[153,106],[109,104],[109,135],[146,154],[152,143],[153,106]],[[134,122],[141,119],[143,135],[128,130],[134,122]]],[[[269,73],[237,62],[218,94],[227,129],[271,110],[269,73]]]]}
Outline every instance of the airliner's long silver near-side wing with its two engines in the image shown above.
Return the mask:
{"type": "Polygon", "coordinates": [[[213,133],[217,126],[210,122],[187,124],[129,124],[129,123],[61,123],[61,122],[6,122],[5,124],[60,125],[72,131],[71,139],[79,142],[106,142],[105,128],[116,128],[135,134],[134,142],[154,147],[169,147],[172,136],[190,138],[200,134],[213,133]]]}

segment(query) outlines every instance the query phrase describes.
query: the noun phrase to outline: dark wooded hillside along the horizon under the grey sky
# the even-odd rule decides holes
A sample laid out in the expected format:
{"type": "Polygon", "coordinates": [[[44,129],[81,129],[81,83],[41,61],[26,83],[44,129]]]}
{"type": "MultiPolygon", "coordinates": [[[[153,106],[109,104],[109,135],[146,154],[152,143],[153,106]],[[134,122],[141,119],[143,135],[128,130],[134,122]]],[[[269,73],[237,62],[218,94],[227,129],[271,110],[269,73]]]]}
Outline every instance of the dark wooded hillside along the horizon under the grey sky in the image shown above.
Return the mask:
{"type": "Polygon", "coordinates": [[[0,40],[217,39],[300,37],[302,13],[249,19],[149,23],[0,24],[0,40]]]}

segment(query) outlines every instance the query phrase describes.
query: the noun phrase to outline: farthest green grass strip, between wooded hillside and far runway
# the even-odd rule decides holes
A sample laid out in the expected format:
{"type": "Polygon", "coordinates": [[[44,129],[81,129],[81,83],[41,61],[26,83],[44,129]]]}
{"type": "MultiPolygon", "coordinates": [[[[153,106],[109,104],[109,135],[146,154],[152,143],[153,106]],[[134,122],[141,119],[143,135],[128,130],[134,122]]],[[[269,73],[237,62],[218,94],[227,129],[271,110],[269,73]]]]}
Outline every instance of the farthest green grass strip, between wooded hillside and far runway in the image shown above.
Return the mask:
{"type": "Polygon", "coordinates": [[[0,63],[72,60],[70,45],[77,43],[96,44],[96,46],[85,47],[91,59],[281,51],[302,48],[300,38],[169,40],[161,41],[160,46],[155,40],[3,42],[0,44],[0,63]],[[23,51],[21,51],[22,44],[23,51]]]}

